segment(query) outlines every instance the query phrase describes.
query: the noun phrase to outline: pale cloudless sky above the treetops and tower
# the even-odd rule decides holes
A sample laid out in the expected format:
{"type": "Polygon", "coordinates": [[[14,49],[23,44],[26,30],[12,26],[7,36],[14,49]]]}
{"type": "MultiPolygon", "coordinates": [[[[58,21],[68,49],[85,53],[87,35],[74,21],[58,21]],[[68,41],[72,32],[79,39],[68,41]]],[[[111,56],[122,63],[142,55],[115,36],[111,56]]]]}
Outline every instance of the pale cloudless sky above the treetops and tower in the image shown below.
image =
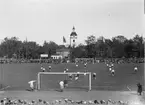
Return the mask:
{"type": "Polygon", "coordinates": [[[77,44],[87,36],[144,36],[143,0],[0,0],[0,39],[69,44],[73,26],[77,44]]]}

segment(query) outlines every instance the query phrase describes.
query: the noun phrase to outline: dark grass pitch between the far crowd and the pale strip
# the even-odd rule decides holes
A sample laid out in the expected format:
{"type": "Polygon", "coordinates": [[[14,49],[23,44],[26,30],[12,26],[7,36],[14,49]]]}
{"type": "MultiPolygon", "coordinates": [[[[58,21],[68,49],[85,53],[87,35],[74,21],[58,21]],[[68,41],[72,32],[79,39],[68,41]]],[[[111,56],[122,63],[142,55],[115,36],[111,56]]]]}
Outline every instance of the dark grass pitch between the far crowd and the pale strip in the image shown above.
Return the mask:
{"type": "MultiPolygon", "coordinates": [[[[67,67],[71,72],[83,72],[84,66],[82,64],[77,68],[75,64],[43,64],[45,68],[52,66],[53,72],[63,72],[67,67]]],[[[3,86],[10,86],[8,90],[26,90],[29,88],[28,81],[36,80],[38,72],[40,72],[40,64],[0,64],[1,83],[3,86]]],[[[89,72],[96,72],[97,79],[92,80],[93,90],[113,90],[113,91],[127,91],[127,85],[136,90],[136,84],[144,82],[144,64],[115,64],[114,69],[116,75],[110,76],[107,66],[104,63],[88,64],[86,68],[89,72]],[[134,74],[134,66],[138,66],[139,71],[134,74]]],[[[42,76],[42,89],[50,88],[57,89],[56,81],[64,79],[62,75],[45,75],[42,76]]],[[[82,77],[79,82],[70,84],[74,89],[83,90],[83,87],[88,86],[88,79],[82,77]]],[[[72,88],[72,89],[73,89],[72,88]]]]}

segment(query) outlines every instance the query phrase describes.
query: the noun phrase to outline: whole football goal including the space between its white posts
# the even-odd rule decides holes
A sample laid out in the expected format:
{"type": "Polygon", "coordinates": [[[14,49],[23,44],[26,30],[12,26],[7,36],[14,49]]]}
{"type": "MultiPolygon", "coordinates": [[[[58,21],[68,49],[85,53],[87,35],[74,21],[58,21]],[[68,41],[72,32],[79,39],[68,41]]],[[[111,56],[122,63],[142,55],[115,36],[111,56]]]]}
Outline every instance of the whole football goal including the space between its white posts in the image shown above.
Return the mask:
{"type": "Polygon", "coordinates": [[[59,89],[59,82],[62,80],[69,80],[68,75],[73,77],[79,74],[78,80],[70,80],[66,89],[87,89],[91,90],[91,72],[39,72],[37,75],[37,89],[38,90],[57,90],[59,89]],[[85,74],[85,75],[84,75],[85,74]]]}

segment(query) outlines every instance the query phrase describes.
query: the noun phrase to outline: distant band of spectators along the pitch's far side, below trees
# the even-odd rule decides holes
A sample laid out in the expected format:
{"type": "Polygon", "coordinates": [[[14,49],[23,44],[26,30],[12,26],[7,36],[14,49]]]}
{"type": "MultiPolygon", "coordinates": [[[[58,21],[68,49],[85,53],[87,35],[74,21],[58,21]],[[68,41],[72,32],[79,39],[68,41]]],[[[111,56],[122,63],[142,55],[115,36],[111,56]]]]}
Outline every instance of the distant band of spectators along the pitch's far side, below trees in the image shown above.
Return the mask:
{"type": "MultiPolygon", "coordinates": [[[[4,59],[0,58],[0,63],[67,63],[68,59],[4,59]]],[[[144,63],[145,58],[76,58],[72,63],[144,63]]]]}

